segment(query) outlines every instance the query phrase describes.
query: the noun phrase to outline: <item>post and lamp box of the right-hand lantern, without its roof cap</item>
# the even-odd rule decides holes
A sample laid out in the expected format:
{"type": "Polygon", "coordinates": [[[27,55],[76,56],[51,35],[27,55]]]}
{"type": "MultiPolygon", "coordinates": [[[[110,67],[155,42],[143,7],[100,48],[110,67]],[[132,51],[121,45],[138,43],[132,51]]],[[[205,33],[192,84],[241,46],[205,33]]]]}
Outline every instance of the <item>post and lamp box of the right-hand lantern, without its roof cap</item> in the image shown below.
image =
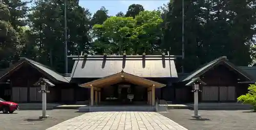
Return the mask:
{"type": "Polygon", "coordinates": [[[198,115],[198,92],[201,92],[199,90],[199,84],[194,84],[194,115],[192,115],[193,118],[201,118],[200,115],[198,115]]]}

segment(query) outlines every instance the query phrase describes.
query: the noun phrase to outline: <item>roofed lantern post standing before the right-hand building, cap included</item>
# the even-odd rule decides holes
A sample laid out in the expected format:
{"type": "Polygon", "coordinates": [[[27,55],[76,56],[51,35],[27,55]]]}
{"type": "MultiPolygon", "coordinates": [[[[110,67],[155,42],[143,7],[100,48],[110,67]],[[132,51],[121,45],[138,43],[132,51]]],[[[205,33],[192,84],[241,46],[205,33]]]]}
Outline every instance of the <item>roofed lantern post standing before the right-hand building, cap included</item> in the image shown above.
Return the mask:
{"type": "Polygon", "coordinates": [[[193,90],[191,92],[194,92],[194,114],[192,115],[193,118],[201,118],[200,115],[198,115],[198,93],[202,92],[200,90],[200,85],[206,85],[205,82],[203,82],[202,80],[200,80],[199,77],[191,79],[186,86],[192,85],[193,86],[193,90]]]}

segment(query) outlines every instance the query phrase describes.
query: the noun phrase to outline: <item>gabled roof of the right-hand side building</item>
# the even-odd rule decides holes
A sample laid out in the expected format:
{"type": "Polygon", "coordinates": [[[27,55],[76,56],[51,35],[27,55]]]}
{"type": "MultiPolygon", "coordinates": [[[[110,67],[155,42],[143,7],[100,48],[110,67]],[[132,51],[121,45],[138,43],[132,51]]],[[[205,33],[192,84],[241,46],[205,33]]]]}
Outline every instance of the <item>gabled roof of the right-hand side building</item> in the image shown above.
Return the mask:
{"type": "Polygon", "coordinates": [[[238,73],[242,74],[244,77],[246,77],[248,80],[252,80],[252,77],[248,75],[246,72],[244,72],[241,68],[235,66],[233,63],[229,62],[226,56],[219,57],[215,60],[212,60],[206,64],[204,64],[201,68],[195,70],[194,72],[191,72],[188,76],[186,76],[184,79],[181,81],[188,81],[191,80],[195,77],[199,77],[205,72],[207,72],[209,69],[215,67],[217,64],[224,62],[227,64],[229,67],[237,71],[238,73]]]}

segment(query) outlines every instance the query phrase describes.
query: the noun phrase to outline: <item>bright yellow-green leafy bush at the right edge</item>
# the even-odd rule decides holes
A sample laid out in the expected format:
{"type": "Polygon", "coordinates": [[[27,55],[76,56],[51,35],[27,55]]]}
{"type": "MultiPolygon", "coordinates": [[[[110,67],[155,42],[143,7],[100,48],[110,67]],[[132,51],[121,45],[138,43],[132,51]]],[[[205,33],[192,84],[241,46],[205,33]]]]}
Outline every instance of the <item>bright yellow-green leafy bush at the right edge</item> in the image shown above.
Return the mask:
{"type": "Polygon", "coordinates": [[[244,104],[251,104],[253,110],[256,111],[256,83],[250,84],[248,93],[238,97],[238,101],[242,101],[244,104]]]}

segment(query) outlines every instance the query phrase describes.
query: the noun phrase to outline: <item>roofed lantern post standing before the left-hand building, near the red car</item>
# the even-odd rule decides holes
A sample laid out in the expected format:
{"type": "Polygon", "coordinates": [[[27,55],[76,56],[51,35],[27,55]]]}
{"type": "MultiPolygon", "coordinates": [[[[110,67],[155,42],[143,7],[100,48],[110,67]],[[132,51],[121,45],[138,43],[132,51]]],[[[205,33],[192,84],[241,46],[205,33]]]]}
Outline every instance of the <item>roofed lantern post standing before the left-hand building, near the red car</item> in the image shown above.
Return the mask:
{"type": "Polygon", "coordinates": [[[49,117],[49,115],[46,114],[46,109],[47,109],[46,93],[50,93],[50,91],[48,90],[48,86],[55,86],[55,85],[45,78],[40,78],[34,85],[41,86],[41,90],[39,91],[39,93],[42,93],[42,115],[39,116],[39,119],[47,118],[49,117]]]}

